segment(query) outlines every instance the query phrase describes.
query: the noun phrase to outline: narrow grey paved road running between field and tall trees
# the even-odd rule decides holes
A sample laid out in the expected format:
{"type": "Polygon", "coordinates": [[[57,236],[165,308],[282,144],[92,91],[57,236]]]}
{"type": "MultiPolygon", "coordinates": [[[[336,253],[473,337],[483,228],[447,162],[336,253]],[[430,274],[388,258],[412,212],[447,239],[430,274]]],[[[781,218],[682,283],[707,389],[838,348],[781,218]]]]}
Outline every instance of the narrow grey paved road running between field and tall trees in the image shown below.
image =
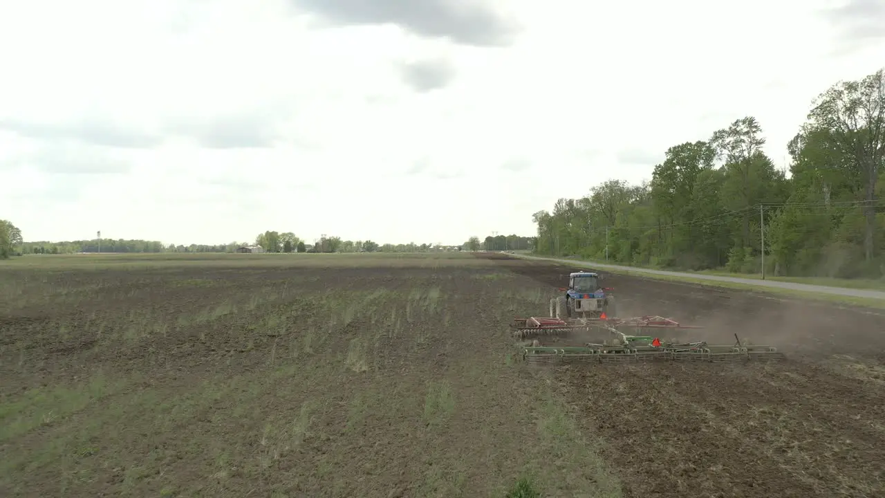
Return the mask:
{"type": "Polygon", "coordinates": [[[885,292],[881,291],[872,291],[868,289],[849,289],[846,287],[831,287],[829,285],[812,285],[812,284],[794,284],[792,282],[778,282],[776,280],[756,280],[752,278],[741,278],[738,276],[718,276],[718,275],[703,275],[697,273],[685,273],[681,271],[666,271],[662,269],[648,269],[648,268],[635,268],[635,267],[625,267],[620,265],[608,265],[603,263],[590,263],[588,261],[576,261],[576,260],[558,260],[552,258],[538,258],[535,256],[528,256],[526,254],[513,254],[519,258],[527,258],[531,260],[542,260],[542,261],[555,261],[558,263],[564,263],[567,265],[572,265],[576,267],[583,268],[599,268],[599,269],[612,269],[612,270],[620,270],[620,271],[636,271],[647,273],[650,275],[660,275],[660,276],[683,276],[694,278],[696,280],[709,280],[711,282],[733,282],[735,284],[749,284],[754,287],[776,287],[780,289],[790,289],[792,291],[802,291],[802,292],[818,292],[821,294],[834,294],[837,296],[850,296],[855,298],[866,298],[872,300],[885,300],[885,292]]]}

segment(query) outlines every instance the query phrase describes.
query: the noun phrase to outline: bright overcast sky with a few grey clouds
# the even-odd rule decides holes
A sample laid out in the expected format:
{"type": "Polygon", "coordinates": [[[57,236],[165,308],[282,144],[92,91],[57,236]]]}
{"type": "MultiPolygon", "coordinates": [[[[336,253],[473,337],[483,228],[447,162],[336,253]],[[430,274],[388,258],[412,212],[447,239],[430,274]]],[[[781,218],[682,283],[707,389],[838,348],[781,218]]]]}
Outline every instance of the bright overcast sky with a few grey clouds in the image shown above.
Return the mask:
{"type": "Polygon", "coordinates": [[[885,65],[885,0],[0,3],[26,240],[458,244],[885,65]],[[371,5],[371,6],[369,6],[371,5]]]}

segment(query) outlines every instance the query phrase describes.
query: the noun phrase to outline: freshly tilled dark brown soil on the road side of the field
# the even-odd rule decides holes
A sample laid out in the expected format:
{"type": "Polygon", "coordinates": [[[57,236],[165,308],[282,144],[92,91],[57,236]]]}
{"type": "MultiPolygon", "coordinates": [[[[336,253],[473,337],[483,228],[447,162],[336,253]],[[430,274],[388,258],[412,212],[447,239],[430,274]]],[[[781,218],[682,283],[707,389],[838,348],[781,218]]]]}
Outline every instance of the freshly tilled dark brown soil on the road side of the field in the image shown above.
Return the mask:
{"type": "MultiPolygon", "coordinates": [[[[551,292],[574,271],[480,255],[551,292]]],[[[629,276],[604,284],[620,315],[703,324],[695,337],[732,344],[737,333],[789,355],[767,365],[551,369],[583,432],[603,441],[624,496],[885,495],[882,315],[629,276]]]]}

